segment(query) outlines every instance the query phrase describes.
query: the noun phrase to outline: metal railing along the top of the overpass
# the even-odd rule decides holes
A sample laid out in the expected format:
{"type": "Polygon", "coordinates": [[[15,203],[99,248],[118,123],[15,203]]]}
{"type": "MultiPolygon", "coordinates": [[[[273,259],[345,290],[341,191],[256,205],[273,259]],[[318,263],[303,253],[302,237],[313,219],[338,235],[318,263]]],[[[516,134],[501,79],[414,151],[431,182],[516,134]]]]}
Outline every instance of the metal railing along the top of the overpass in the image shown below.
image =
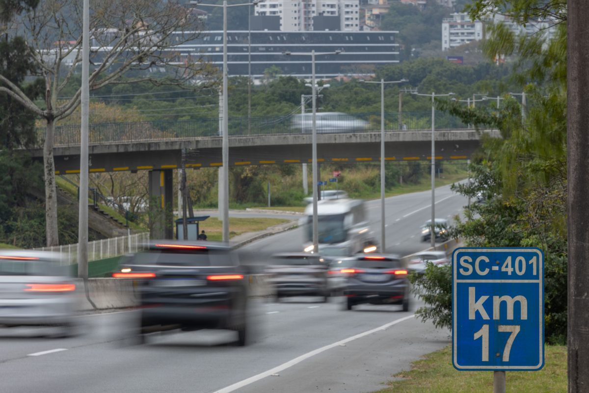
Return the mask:
{"type": "MultiPolygon", "coordinates": [[[[428,130],[431,128],[431,112],[403,112],[401,127],[399,113],[385,113],[387,131],[428,130]]],[[[310,133],[310,114],[273,117],[252,117],[248,130],[247,117],[229,118],[230,136],[265,136],[273,134],[310,133]]],[[[436,113],[436,129],[468,128],[458,117],[448,113],[436,113]]],[[[380,131],[380,113],[318,113],[319,133],[365,133],[380,131]]],[[[90,125],[90,144],[117,143],[130,141],[174,140],[177,138],[218,137],[219,118],[198,118],[194,120],[155,120],[136,123],[102,123],[90,125]]],[[[42,146],[45,129],[38,128],[39,146],[42,146]]],[[[55,127],[54,146],[76,146],[80,144],[80,125],[71,124],[55,127]]]]}

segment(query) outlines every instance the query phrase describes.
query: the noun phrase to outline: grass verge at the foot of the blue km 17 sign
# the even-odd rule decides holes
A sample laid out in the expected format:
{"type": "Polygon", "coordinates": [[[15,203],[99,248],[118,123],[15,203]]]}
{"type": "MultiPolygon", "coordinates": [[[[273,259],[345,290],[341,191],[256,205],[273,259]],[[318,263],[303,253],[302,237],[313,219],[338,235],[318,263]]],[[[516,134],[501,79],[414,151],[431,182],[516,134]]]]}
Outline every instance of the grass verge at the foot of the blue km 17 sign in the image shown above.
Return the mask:
{"type": "MultiPolygon", "coordinates": [[[[509,371],[510,393],[548,393],[567,391],[567,347],[547,345],[545,365],[540,371],[509,371]]],[[[452,348],[446,346],[413,362],[411,371],[393,375],[404,378],[388,383],[378,393],[478,393],[493,391],[491,371],[458,371],[452,366],[452,348]]]]}

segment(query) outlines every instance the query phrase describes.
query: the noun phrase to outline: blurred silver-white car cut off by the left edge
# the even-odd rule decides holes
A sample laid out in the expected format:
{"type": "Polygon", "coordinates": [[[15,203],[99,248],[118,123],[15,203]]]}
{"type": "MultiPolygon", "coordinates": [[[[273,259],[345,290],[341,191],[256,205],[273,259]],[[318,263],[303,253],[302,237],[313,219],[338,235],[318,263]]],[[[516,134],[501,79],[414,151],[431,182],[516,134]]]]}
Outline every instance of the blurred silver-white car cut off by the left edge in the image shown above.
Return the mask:
{"type": "Polygon", "coordinates": [[[0,253],[0,325],[60,326],[73,333],[76,285],[63,273],[57,253],[5,250],[0,253]]]}

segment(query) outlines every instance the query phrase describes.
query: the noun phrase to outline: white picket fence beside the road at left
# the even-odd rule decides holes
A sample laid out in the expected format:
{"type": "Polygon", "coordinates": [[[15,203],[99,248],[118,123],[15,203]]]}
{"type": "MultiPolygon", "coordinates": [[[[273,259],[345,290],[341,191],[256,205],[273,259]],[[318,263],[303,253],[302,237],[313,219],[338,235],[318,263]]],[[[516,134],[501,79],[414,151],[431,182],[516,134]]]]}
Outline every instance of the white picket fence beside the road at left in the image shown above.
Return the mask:
{"type": "MultiPolygon", "coordinates": [[[[136,233],[135,235],[111,237],[110,239],[88,242],[88,261],[106,259],[126,253],[144,250],[149,242],[149,232],[136,233]]],[[[64,257],[61,265],[74,265],[78,263],[78,243],[75,245],[42,247],[35,250],[59,252],[64,257]]]]}

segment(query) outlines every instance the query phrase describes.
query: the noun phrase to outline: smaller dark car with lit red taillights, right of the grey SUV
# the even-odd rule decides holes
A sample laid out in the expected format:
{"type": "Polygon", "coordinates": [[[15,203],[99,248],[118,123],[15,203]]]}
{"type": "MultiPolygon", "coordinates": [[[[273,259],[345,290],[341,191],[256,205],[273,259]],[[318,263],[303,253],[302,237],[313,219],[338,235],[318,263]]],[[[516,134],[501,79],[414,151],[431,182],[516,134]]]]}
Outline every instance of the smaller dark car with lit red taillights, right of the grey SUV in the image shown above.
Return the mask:
{"type": "Polygon", "coordinates": [[[345,309],[362,303],[398,304],[409,311],[408,271],[396,256],[360,254],[346,260],[355,260],[353,267],[340,270],[348,274],[343,290],[345,309]]]}

